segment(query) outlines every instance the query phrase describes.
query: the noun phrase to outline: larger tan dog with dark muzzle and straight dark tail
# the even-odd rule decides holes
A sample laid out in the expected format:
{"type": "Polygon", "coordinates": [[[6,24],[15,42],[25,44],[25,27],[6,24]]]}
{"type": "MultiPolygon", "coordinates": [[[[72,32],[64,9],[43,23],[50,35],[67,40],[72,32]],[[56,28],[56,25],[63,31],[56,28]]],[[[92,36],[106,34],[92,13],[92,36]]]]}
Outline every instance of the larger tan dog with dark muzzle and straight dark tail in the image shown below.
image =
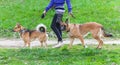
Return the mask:
{"type": "Polygon", "coordinates": [[[99,45],[97,48],[102,48],[103,41],[101,40],[101,36],[104,37],[112,37],[111,34],[106,34],[103,26],[96,22],[88,22],[85,24],[69,24],[68,19],[66,19],[65,22],[61,23],[61,28],[63,31],[67,31],[69,33],[71,42],[69,47],[72,47],[73,41],[75,38],[79,38],[82,42],[82,45],[84,45],[84,39],[83,37],[90,32],[94,39],[96,39],[99,42],[99,45]]]}

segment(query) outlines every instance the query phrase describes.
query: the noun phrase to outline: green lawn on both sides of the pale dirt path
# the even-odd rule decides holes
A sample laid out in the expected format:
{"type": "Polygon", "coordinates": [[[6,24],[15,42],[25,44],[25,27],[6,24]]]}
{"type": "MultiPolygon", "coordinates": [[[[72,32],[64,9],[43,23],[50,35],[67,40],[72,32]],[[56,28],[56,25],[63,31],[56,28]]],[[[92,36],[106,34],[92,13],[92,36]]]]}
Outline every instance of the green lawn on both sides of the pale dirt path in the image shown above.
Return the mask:
{"type": "MultiPolygon", "coordinates": [[[[46,17],[40,16],[49,0],[0,0],[0,38],[13,38],[12,29],[16,23],[27,29],[35,29],[39,23],[50,24],[54,10],[48,11],[46,17]]],[[[75,19],[71,23],[95,21],[120,38],[120,0],[71,0],[75,19]]],[[[63,20],[68,17],[67,7],[63,20]]],[[[16,34],[18,36],[18,34],[16,34]]],[[[63,35],[66,36],[66,35],[63,35]]],[[[75,45],[62,48],[0,48],[0,65],[120,65],[120,45],[104,45],[96,49],[96,45],[83,48],[75,45]]]]}

